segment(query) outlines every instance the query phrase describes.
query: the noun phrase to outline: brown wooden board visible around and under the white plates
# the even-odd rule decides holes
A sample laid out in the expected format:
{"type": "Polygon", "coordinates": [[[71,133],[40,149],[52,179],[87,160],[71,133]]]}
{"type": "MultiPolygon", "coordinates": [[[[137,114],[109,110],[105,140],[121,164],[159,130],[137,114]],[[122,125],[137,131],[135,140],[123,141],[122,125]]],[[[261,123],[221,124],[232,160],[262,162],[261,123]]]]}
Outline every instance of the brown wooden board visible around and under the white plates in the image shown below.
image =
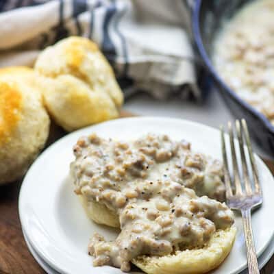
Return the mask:
{"type": "MultiPolygon", "coordinates": [[[[134,116],[122,112],[121,117],[134,116]]],[[[51,133],[47,146],[66,133],[58,126],[51,125],[51,133]]],[[[274,174],[274,162],[266,161],[274,174]]],[[[18,193],[21,181],[0,186],[0,274],[40,274],[45,273],[29,253],[23,238],[18,217],[18,193]]],[[[261,273],[272,274],[274,256],[264,266],[261,273]]],[[[168,273],[167,273],[168,274],[168,273]]],[[[225,274],[225,273],[224,273],[225,274]]]]}

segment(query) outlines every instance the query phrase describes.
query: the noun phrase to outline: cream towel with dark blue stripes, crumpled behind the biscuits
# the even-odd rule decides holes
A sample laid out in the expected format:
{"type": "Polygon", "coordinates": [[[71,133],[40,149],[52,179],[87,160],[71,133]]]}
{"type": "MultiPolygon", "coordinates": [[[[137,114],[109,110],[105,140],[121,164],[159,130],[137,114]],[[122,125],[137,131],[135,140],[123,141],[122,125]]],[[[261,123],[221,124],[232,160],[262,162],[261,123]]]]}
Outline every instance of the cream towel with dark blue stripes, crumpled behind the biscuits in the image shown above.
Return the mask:
{"type": "Polygon", "coordinates": [[[32,65],[69,35],[101,47],[128,91],[199,97],[185,0],[0,0],[0,66],[32,65]]]}

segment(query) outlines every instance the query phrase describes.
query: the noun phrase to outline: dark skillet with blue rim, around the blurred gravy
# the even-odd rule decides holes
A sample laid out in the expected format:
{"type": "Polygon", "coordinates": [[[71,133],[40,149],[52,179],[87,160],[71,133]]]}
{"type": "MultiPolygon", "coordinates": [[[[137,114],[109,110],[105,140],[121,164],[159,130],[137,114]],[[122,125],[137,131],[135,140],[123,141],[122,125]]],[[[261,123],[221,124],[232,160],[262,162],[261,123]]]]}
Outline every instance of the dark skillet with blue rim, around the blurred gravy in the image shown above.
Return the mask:
{"type": "Polygon", "coordinates": [[[266,154],[273,157],[274,126],[263,114],[240,99],[236,92],[223,82],[211,60],[214,36],[223,21],[233,16],[247,2],[247,0],[197,0],[193,7],[192,29],[201,58],[214,79],[214,86],[221,93],[229,110],[236,118],[247,120],[253,139],[266,154]]]}

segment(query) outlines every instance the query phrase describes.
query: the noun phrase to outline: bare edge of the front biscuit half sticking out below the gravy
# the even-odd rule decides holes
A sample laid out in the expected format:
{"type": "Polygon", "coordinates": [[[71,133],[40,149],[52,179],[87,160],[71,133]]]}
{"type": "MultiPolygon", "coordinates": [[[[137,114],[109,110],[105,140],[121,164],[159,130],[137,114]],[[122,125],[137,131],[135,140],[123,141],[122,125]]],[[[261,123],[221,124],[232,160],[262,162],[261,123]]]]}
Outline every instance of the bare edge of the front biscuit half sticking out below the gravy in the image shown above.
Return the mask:
{"type": "Polygon", "coordinates": [[[132,262],[148,274],[201,274],[216,269],[231,251],[236,227],[214,232],[202,249],[177,251],[174,255],[140,256],[132,262]]]}

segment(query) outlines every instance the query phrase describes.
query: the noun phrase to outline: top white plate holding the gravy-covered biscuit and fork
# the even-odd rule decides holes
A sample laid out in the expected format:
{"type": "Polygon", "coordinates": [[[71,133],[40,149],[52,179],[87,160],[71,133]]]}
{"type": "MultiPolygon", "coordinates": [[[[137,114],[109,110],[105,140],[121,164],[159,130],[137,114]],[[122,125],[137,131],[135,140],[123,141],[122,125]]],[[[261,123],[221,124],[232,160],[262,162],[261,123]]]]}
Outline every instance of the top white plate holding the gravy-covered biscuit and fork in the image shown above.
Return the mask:
{"type": "MultiPolygon", "coordinates": [[[[25,176],[19,197],[23,229],[39,256],[60,273],[118,274],[110,266],[92,267],[87,254],[88,239],[100,232],[107,239],[116,231],[92,223],[84,214],[69,179],[72,147],[79,136],[97,132],[102,137],[134,139],[147,132],[169,134],[174,139],[192,142],[192,149],[221,159],[220,134],[216,129],[179,119],[130,118],[101,123],[73,132],[44,151],[25,176]]],[[[264,203],[252,216],[256,250],[260,255],[273,236],[274,180],[269,169],[256,157],[264,203]]],[[[225,262],[214,274],[240,273],[247,264],[240,217],[236,242],[225,262]]],[[[133,272],[132,272],[133,273],[133,272]]]]}

